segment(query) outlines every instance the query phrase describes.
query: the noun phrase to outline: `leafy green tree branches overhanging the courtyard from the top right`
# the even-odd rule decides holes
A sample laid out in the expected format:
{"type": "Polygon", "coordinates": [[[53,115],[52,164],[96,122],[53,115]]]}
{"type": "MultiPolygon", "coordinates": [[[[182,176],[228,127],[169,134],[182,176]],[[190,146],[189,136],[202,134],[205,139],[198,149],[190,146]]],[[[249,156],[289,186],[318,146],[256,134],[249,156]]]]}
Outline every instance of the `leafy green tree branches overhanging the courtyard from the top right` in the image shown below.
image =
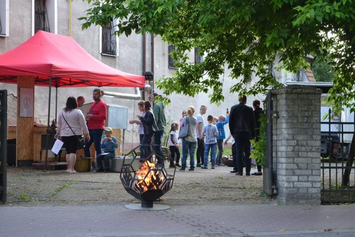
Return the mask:
{"type": "Polygon", "coordinates": [[[172,56],[179,70],[157,83],[167,96],[173,92],[194,96],[211,88],[211,102],[218,104],[224,100],[219,77],[224,65],[235,79],[230,92],[255,95],[279,86],[268,69],[276,54],[282,52],[278,65],[297,72],[309,68],[304,56],[315,52],[321,61],[328,56],[333,62],[336,77],[328,99],[335,109],[355,97],[352,0],[86,1],[91,6],[80,18],[83,29],[118,18],[118,34],[154,33],[176,46],[172,56]],[[186,53],[194,47],[205,53],[204,61],[196,65],[189,63],[186,53]],[[260,80],[247,90],[251,73],[260,80]]]}

